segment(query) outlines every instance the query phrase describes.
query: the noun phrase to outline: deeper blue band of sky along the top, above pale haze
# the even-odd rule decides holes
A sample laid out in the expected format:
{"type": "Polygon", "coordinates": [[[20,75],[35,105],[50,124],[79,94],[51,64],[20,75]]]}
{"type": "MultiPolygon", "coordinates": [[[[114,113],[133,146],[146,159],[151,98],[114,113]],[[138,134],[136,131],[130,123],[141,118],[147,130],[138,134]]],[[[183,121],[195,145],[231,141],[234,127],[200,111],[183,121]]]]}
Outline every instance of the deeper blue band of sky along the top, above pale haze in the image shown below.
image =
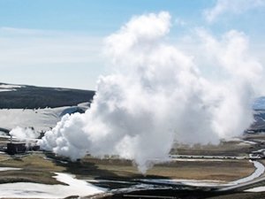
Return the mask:
{"type": "Polygon", "coordinates": [[[0,22],[4,27],[109,34],[133,15],[170,11],[188,18],[200,15],[210,1],[130,0],[2,0],[0,22]]]}

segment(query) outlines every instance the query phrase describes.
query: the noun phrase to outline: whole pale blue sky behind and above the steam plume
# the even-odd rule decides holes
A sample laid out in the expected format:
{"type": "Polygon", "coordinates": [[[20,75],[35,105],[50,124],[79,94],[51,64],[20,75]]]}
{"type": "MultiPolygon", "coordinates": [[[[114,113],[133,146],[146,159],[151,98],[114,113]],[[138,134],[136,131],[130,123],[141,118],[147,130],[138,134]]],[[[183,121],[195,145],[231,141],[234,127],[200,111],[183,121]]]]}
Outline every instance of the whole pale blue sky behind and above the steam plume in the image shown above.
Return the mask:
{"type": "Polygon", "coordinates": [[[217,38],[237,30],[265,64],[265,0],[0,0],[0,82],[95,89],[112,70],[104,39],[159,11],[171,16],[168,41],[184,46],[198,29],[217,38]]]}

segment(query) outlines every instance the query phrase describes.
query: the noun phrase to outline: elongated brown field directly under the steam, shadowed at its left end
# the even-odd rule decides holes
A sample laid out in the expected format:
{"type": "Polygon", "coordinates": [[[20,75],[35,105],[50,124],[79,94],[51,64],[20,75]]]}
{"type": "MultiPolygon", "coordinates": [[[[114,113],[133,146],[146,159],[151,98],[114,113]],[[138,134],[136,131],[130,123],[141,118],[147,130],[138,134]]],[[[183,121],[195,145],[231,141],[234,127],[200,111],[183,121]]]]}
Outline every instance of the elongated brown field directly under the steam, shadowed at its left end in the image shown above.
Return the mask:
{"type": "Polygon", "coordinates": [[[247,160],[172,161],[155,165],[142,174],[132,161],[85,157],[78,163],[64,165],[67,172],[80,179],[132,180],[144,178],[188,180],[238,180],[254,172],[247,160]],[[232,169],[231,169],[232,168],[232,169]]]}

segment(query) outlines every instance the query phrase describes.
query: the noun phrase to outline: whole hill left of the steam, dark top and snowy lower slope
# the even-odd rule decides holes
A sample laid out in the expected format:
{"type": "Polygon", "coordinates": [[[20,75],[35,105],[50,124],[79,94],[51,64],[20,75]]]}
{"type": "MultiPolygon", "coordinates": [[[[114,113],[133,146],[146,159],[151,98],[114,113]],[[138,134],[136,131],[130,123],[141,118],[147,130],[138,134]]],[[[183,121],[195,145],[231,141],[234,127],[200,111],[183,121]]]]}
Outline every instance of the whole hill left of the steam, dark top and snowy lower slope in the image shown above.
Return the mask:
{"type": "Polygon", "coordinates": [[[56,126],[65,114],[85,112],[95,91],[0,83],[0,128],[56,126]]]}

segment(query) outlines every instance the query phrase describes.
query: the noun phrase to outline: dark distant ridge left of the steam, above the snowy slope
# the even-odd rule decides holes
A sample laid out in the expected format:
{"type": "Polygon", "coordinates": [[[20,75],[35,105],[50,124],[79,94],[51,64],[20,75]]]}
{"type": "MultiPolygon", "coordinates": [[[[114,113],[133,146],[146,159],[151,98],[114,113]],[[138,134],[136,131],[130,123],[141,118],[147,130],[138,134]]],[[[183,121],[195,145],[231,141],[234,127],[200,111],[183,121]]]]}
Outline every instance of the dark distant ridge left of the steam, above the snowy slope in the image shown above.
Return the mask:
{"type": "Polygon", "coordinates": [[[0,109],[38,109],[91,102],[95,91],[0,83],[0,109]]]}

